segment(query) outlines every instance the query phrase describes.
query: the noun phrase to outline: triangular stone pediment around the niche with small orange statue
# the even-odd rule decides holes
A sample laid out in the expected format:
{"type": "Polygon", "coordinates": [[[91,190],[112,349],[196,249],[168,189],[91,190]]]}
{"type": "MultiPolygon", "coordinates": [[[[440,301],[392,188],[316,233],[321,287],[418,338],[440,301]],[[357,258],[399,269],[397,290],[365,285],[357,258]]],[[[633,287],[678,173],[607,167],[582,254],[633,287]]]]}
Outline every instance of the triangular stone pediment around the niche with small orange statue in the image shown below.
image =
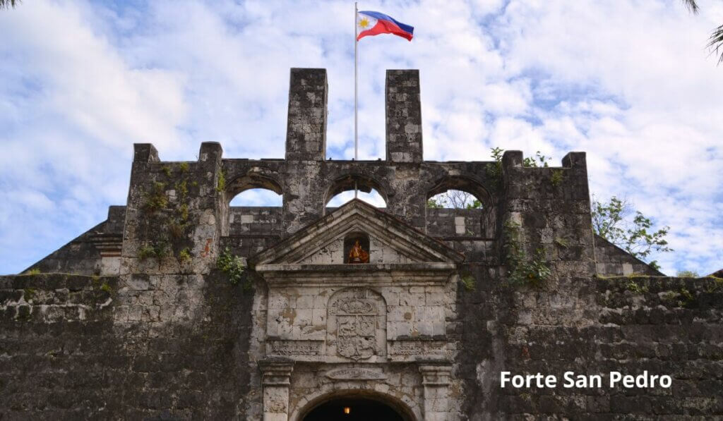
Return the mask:
{"type": "Polygon", "coordinates": [[[359,233],[369,238],[365,250],[369,264],[456,264],[464,260],[439,240],[355,199],[258,253],[250,262],[255,266],[346,264],[348,239],[359,233]]]}

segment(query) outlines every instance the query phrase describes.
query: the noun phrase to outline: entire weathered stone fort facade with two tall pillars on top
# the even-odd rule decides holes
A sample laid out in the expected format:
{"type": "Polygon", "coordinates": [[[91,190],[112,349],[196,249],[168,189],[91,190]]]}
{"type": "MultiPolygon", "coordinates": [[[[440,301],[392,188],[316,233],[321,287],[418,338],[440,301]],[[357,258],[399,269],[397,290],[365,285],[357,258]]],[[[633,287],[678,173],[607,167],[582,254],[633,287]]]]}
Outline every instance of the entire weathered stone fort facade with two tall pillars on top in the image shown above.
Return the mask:
{"type": "Polygon", "coordinates": [[[291,69],[285,159],[135,144],[125,206],[0,277],[0,419],[722,419],[723,281],[596,237],[583,152],[425,161],[419,73],[390,70],[386,159],[328,160],[327,90],[291,69]],[[326,207],[355,186],[386,207],[326,207]],[[249,188],[283,206],[229,206],[249,188]],[[450,189],[482,208],[427,207],[450,189]]]}

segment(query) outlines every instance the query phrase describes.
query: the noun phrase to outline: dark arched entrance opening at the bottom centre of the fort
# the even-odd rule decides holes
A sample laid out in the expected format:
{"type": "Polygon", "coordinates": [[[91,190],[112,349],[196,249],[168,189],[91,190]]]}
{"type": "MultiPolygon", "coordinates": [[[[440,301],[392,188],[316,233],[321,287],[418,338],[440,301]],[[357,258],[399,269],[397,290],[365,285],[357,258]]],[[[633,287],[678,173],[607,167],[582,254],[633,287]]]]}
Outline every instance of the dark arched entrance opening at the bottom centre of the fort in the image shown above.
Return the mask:
{"type": "Polygon", "coordinates": [[[352,394],[326,399],[302,415],[300,421],[414,421],[403,404],[376,395],[352,394]]]}

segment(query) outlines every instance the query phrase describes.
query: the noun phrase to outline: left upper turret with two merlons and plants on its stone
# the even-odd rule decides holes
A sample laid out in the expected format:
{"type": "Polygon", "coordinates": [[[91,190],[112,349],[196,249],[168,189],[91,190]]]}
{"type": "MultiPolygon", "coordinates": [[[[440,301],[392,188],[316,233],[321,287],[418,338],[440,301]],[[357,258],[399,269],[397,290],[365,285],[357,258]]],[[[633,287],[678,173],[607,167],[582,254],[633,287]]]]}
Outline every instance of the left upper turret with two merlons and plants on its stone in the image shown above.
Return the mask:
{"type": "Polygon", "coordinates": [[[228,220],[222,153],[220,144],[205,142],[196,162],[162,162],[152,144],[134,145],[121,275],[200,274],[213,267],[221,221],[228,220]]]}

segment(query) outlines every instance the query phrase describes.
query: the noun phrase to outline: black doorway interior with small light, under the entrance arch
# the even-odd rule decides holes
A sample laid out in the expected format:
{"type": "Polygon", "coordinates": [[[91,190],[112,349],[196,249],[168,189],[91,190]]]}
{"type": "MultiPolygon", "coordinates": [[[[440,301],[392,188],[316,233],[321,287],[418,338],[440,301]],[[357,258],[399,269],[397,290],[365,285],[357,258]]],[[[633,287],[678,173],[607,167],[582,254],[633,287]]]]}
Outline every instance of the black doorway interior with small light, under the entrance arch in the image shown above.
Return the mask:
{"type": "Polygon", "coordinates": [[[364,398],[340,398],[312,409],[303,421],[405,421],[406,418],[382,402],[364,398]],[[348,414],[345,413],[348,408],[348,414]]]}

